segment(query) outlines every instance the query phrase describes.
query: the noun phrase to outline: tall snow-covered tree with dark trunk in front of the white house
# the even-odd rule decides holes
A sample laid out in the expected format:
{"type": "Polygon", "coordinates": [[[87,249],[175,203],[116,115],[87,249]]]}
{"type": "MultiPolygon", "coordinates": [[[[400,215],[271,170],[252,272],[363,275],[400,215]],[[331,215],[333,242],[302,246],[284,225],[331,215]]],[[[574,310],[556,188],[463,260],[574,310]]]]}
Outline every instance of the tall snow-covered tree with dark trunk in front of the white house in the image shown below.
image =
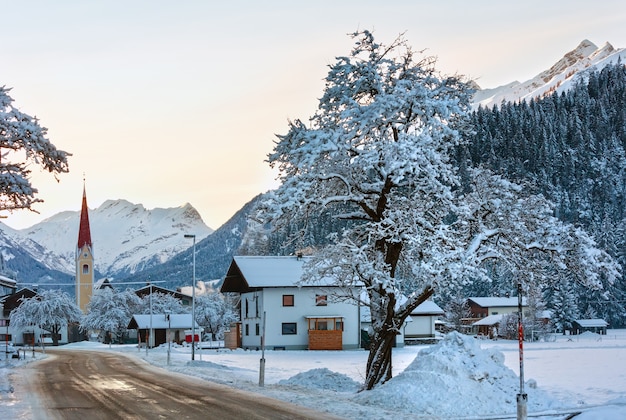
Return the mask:
{"type": "MultiPolygon", "coordinates": [[[[572,231],[541,228],[545,220],[533,219],[545,216],[541,202],[528,202],[539,209],[516,234],[514,224],[494,225],[480,192],[459,188],[450,154],[463,141],[466,83],[440,76],[432,58],[416,60],[402,37],[389,46],[368,31],[353,37],[350,56],[330,66],[309,125],[290,122],[278,136],[269,163],[282,185],[260,209],[276,229],[323,211],[349,221],[316,254],[303,281],[330,277],[365,287],[372,331],[364,388],[372,389],[391,378],[392,347],[404,321],[436,290],[484,278],[482,266],[495,258],[517,272],[535,255],[541,261],[529,266],[543,270],[544,249],[551,256],[588,255],[569,251],[573,239],[563,248],[551,242],[553,233],[569,239],[572,231]],[[526,252],[516,255],[521,249],[526,252]]],[[[487,173],[481,186],[488,180],[487,173]]]]}

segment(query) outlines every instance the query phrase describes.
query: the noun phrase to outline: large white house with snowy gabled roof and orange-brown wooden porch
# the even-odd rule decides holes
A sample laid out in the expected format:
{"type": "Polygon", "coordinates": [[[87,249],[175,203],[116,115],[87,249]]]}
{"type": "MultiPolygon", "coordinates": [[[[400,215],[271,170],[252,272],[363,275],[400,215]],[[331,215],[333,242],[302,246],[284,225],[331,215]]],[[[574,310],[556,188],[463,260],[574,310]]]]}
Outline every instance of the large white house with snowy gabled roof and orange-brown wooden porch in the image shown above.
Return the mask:
{"type": "Polygon", "coordinates": [[[241,294],[241,346],[268,349],[358,348],[359,308],[340,301],[330,280],[300,285],[307,257],[235,256],[221,288],[241,294]]]}

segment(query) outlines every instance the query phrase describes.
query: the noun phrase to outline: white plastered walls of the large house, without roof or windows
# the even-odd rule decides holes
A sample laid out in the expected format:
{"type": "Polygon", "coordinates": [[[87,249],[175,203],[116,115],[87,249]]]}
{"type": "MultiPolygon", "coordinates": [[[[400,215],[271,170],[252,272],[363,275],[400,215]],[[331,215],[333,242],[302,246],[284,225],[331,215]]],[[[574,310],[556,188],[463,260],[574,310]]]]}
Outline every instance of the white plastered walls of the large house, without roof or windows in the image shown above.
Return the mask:
{"type": "Polygon", "coordinates": [[[342,316],[344,349],[358,348],[359,319],[358,308],[347,302],[334,302],[328,288],[319,287],[283,287],[266,288],[253,293],[241,295],[242,346],[243,348],[260,348],[265,312],[265,347],[267,349],[285,348],[287,350],[306,349],[309,344],[307,316],[342,316]],[[283,295],[294,295],[294,306],[283,306],[283,295]],[[316,295],[327,295],[326,306],[316,306],[316,295]],[[255,300],[256,299],[256,300],[255,300]],[[246,300],[248,314],[246,316],[246,300]],[[256,312],[256,301],[259,302],[259,313],[256,312]],[[283,323],[296,323],[297,334],[283,335],[283,323]],[[257,327],[259,325],[259,335],[257,327]],[[246,326],[247,325],[247,326],[246,326]]]}

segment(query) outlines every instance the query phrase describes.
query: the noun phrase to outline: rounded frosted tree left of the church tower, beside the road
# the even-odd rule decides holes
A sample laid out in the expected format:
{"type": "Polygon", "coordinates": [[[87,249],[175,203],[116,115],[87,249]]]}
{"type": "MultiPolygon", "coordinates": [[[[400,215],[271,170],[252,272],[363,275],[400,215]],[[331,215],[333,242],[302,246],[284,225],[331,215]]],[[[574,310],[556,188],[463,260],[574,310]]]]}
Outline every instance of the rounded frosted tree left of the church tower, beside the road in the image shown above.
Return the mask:
{"type": "Polygon", "coordinates": [[[36,325],[52,333],[52,343],[59,345],[59,333],[68,324],[80,322],[83,313],[70,295],[60,290],[43,290],[23,299],[11,312],[11,325],[28,328],[36,325]]]}

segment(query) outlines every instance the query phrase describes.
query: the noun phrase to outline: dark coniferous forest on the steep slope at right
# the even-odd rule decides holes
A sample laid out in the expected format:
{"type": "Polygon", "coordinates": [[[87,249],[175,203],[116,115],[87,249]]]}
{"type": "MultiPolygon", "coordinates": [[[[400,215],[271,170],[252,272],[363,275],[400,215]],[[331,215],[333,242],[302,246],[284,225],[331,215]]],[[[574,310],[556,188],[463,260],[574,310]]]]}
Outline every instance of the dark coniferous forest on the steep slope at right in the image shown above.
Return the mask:
{"type": "MultiPolygon", "coordinates": [[[[571,90],[530,102],[479,108],[459,166],[484,165],[542,193],[555,216],[581,226],[626,267],[626,67],[588,73],[571,90]]],[[[502,281],[505,281],[504,279],[502,281]]],[[[598,292],[567,278],[543,291],[548,308],[626,324],[626,281],[598,292]]],[[[483,292],[510,286],[496,281],[483,292]]],[[[478,292],[478,290],[476,290],[478,292]]],[[[483,295],[484,293],[479,293],[483,295]]]]}

